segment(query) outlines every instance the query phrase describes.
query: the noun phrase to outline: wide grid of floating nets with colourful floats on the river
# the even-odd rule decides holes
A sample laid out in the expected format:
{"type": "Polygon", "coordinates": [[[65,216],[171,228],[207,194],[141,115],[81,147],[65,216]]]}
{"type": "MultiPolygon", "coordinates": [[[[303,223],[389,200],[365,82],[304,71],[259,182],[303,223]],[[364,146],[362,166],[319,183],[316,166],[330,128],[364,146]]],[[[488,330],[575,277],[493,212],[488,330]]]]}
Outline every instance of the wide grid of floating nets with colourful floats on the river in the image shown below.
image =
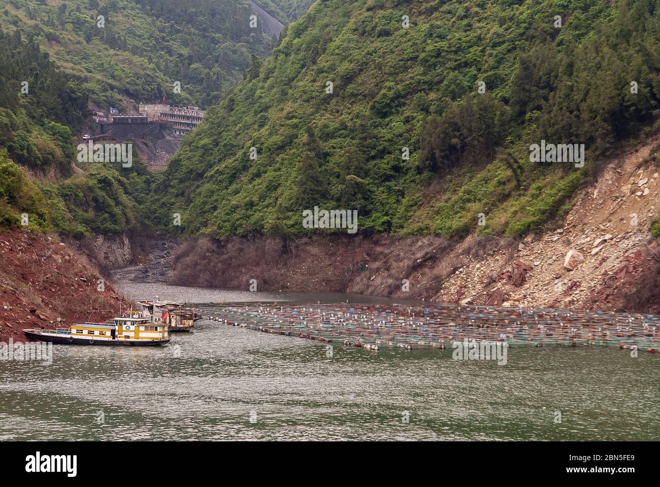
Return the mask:
{"type": "MultiPolygon", "coordinates": [[[[209,310],[211,311],[211,310],[209,310]]],[[[209,319],[286,337],[355,346],[618,346],[660,353],[659,318],[638,313],[498,306],[223,304],[209,319]]]]}

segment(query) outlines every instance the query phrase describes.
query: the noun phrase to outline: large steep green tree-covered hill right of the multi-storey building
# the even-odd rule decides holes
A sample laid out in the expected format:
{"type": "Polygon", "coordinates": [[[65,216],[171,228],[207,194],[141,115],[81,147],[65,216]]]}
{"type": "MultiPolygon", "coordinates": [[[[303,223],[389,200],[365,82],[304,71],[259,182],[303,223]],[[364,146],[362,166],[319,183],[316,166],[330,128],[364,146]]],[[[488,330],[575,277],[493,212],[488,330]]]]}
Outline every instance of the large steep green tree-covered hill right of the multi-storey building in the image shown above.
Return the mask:
{"type": "Polygon", "coordinates": [[[290,236],[317,205],[363,232],[523,234],[654,129],[659,46],[658,0],[319,0],[183,141],[157,218],[290,236]],[[530,162],[544,139],[585,167],[530,162]]]}

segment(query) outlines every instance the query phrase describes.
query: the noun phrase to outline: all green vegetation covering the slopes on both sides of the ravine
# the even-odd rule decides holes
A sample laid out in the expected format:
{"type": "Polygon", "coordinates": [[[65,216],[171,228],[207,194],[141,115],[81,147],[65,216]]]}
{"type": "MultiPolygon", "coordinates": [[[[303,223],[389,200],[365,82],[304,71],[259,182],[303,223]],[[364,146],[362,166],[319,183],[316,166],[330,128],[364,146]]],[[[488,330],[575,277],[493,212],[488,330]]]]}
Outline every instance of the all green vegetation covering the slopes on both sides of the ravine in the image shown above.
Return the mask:
{"type": "MultiPolygon", "coordinates": [[[[308,1],[256,3],[286,21],[308,1]]],[[[244,2],[10,0],[3,218],[31,208],[73,235],[298,236],[318,206],[358,210],[361,232],[525,234],[566,214],[612,148],[657,129],[659,4],[319,0],[273,40],[246,27],[244,2]],[[71,164],[88,101],[223,93],[163,174],[71,164]],[[584,144],[584,167],[531,162],[544,140],[584,144]]]]}

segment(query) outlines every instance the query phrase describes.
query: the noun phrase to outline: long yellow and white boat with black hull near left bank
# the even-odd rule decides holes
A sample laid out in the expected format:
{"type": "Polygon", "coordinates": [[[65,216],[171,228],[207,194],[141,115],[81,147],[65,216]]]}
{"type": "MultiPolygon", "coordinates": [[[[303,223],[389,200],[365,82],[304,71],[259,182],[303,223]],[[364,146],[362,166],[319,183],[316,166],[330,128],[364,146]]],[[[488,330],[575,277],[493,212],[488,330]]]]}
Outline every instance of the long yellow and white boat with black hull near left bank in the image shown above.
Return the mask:
{"type": "Polygon", "coordinates": [[[82,323],[68,329],[23,330],[42,342],[79,345],[164,345],[170,341],[167,323],[154,323],[145,317],[120,316],[106,323],[82,323]]]}

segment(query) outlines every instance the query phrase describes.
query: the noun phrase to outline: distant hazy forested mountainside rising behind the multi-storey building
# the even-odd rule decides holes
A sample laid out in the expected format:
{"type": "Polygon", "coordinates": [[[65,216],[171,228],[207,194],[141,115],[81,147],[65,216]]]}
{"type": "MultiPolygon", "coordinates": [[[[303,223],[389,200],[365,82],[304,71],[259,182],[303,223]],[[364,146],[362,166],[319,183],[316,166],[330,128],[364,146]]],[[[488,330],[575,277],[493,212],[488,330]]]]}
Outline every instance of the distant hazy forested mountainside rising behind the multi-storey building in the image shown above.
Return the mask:
{"type": "MultiPolygon", "coordinates": [[[[273,2],[277,5],[277,1],[273,2]]],[[[8,0],[0,24],[34,35],[107,110],[125,99],[209,106],[277,40],[247,0],[8,0]],[[176,93],[174,82],[181,83],[176,93]]]]}

